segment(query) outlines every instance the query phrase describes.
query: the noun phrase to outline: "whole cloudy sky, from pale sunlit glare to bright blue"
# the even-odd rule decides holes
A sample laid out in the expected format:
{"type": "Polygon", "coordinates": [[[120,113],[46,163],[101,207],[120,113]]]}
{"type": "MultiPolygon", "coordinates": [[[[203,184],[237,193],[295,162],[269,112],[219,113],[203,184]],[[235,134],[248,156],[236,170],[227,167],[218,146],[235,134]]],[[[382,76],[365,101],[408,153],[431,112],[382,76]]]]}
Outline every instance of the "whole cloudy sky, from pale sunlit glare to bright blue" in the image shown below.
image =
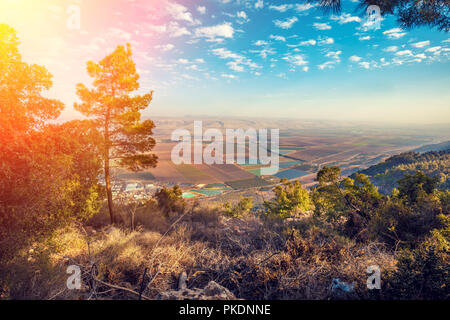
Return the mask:
{"type": "Polygon", "coordinates": [[[0,1],[62,120],[81,117],[86,62],[130,43],[138,93],[154,90],[145,117],[449,123],[450,35],[377,21],[352,0],[334,15],[301,0],[0,1]]]}

